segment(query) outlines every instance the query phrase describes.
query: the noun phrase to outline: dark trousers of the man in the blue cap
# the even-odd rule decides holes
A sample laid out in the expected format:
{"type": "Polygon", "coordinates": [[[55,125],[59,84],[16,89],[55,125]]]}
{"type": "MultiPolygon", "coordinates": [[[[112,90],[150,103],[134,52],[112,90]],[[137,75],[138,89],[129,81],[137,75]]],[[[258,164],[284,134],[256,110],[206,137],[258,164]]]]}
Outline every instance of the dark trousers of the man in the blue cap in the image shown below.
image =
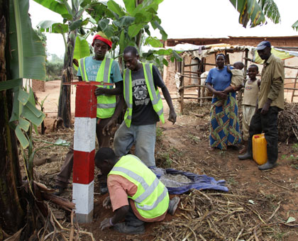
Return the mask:
{"type": "Polygon", "coordinates": [[[261,114],[260,111],[261,109],[258,112],[256,111],[250,120],[248,153],[253,153],[253,135],[264,132],[267,141],[267,162],[274,164],[278,155],[277,115],[279,108],[272,106],[265,115],[261,114]]]}

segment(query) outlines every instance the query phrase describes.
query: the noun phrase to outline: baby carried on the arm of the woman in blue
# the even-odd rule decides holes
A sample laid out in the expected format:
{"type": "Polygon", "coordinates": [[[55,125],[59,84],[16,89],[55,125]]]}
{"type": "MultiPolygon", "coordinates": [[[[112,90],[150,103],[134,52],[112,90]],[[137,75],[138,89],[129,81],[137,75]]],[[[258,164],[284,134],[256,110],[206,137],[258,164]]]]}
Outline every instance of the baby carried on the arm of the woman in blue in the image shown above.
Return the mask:
{"type": "MultiPolygon", "coordinates": [[[[233,64],[233,69],[230,69],[229,66],[226,67],[226,70],[228,73],[232,74],[232,79],[231,79],[231,84],[230,86],[228,86],[223,93],[228,94],[228,89],[230,89],[231,87],[233,88],[233,90],[235,90],[236,87],[242,85],[243,86],[243,69],[244,65],[243,62],[235,62],[233,64]]],[[[223,106],[224,104],[224,99],[221,99],[221,101],[219,101],[219,103],[216,103],[216,106],[223,106]]]]}

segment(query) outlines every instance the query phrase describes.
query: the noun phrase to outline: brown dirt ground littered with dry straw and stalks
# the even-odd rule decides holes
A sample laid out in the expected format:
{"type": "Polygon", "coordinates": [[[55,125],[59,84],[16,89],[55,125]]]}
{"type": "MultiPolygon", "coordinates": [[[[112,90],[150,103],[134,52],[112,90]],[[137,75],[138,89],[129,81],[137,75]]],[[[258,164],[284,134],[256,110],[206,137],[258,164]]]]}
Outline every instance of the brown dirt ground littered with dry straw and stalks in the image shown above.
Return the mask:
{"type": "MultiPolygon", "coordinates": [[[[45,101],[45,135],[39,140],[55,142],[59,138],[71,141],[73,129],[52,130],[57,112],[59,82],[46,82],[45,92],[36,92],[45,101]]],[[[75,88],[72,103],[75,100],[75,88]]],[[[171,93],[175,96],[175,93],[171,93]]],[[[184,115],[174,100],[177,123],[158,124],[155,157],[158,167],[174,168],[195,174],[206,174],[216,180],[225,180],[228,192],[192,190],[181,198],[175,216],[167,214],[160,223],[145,224],[144,235],[122,235],[112,229],[99,230],[111,211],[102,208],[106,197],[99,194],[94,177],[94,220],[79,225],[80,230],[92,232],[94,240],[298,240],[298,145],[296,142],[279,143],[279,159],[275,169],[258,170],[253,160],[238,160],[238,150],[209,150],[209,106],[199,107],[188,102],[184,115]],[[287,221],[292,222],[287,223],[287,221]],[[294,220],[294,221],[293,221],[294,220]]],[[[167,106],[166,104],[164,106],[167,106]]],[[[72,112],[74,111],[72,104],[72,112]]],[[[168,111],[165,108],[165,116],[168,111]]],[[[36,147],[45,145],[38,140],[36,147]]],[[[35,179],[48,187],[55,185],[55,176],[65,159],[67,147],[50,147],[37,152],[35,159],[54,157],[35,167],[35,179]]],[[[96,170],[95,174],[98,173],[96,170]]],[[[63,197],[72,200],[71,180],[63,197]]],[[[57,219],[70,226],[69,213],[52,205],[57,219]]],[[[80,235],[81,240],[92,240],[80,235]]]]}

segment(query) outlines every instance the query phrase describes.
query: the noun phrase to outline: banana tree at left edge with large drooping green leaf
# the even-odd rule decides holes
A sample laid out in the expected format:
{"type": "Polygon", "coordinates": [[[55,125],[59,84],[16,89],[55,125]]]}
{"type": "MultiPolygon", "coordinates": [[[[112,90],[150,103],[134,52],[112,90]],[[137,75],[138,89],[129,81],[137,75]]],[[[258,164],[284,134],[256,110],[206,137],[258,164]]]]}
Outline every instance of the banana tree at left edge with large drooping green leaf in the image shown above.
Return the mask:
{"type": "MultiPolygon", "coordinates": [[[[14,233],[25,223],[28,203],[21,189],[16,140],[20,142],[21,148],[28,147],[28,138],[24,133],[31,123],[39,125],[44,115],[31,102],[32,92],[24,91],[22,86],[24,78],[45,79],[45,48],[31,26],[28,0],[1,0],[0,6],[0,240],[2,240],[4,232],[14,233]]],[[[26,169],[30,166],[30,163],[25,163],[26,169]]],[[[31,217],[28,213],[28,221],[31,217]]],[[[29,225],[27,230],[30,232],[29,225]]]]}

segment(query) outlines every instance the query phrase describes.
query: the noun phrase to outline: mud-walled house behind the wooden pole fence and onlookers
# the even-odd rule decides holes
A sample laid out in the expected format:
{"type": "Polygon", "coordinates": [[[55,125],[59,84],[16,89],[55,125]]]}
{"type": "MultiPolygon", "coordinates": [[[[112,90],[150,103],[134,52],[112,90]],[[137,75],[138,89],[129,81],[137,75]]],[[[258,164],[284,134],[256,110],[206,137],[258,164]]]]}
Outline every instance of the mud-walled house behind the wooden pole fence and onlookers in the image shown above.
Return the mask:
{"type": "MultiPolygon", "coordinates": [[[[298,35],[297,36],[277,36],[277,37],[257,37],[257,36],[250,36],[250,37],[236,37],[236,36],[221,36],[221,37],[214,37],[214,38],[170,38],[165,41],[164,46],[165,47],[173,47],[178,44],[183,43],[189,43],[192,45],[199,45],[199,46],[205,46],[205,45],[220,45],[220,44],[227,44],[227,45],[240,45],[240,46],[257,46],[258,43],[260,43],[263,40],[270,41],[271,45],[280,49],[284,50],[290,50],[290,51],[298,51],[298,35]]],[[[184,56],[184,62],[187,64],[192,63],[192,57],[190,55],[183,55],[184,56]]],[[[245,57],[245,52],[234,52],[233,54],[228,54],[229,62],[233,64],[233,62],[236,61],[243,61],[245,57]]],[[[252,55],[249,54],[248,58],[252,59],[252,55]]],[[[292,57],[287,60],[283,60],[285,63],[285,66],[294,66],[298,67],[298,57],[292,57]]],[[[215,55],[210,55],[205,58],[205,62],[210,64],[215,64],[215,55]]],[[[253,62],[248,61],[248,65],[251,65],[253,62]]],[[[261,72],[263,66],[258,65],[259,70],[261,72]]],[[[212,65],[206,65],[205,71],[209,71],[211,69],[212,65]]],[[[185,67],[185,71],[193,71],[192,67],[185,67]]],[[[164,67],[163,71],[163,79],[165,80],[165,83],[168,86],[168,89],[170,91],[176,91],[175,86],[175,73],[177,71],[177,64],[175,62],[169,62],[168,67],[164,67]]],[[[287,87],[293,87],[294,86],[294,78],[297,77],[297,69],[290,69],[285,68],[285,77],[289,79],[285,79],[285,86],[287,87]],[[292,79],[291,79],[292,78],[292,79]]],[[[194,79],[191,78],[185,78],[184,84],[193,84],[194,79]]],[[[298,91],[297,91],[298,92],[298,91]]],[[[285,94],[292,96],[292,90],[291,91],[285,91],[285,94]],[[287,93],[289,92],[289,93],[287,93]]],[[[298,93],[296,93],[298,94],[298,93]]],[[[298,101],[298,99],[297,99],[298,101]]]]}

